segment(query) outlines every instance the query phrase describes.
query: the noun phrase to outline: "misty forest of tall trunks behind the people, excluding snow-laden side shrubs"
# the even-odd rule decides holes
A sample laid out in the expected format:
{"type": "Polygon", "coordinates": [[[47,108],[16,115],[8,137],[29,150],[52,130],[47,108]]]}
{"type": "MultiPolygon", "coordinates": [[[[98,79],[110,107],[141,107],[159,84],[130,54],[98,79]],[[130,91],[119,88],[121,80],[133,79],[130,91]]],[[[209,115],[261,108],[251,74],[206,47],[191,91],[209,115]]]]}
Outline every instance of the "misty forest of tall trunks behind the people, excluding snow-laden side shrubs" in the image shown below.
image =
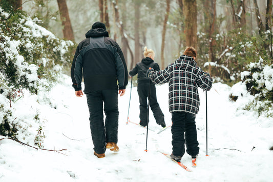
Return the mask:
{"type": "Polygon", "coordinates": [[[194,46],[198,65],[229,86],[259,56],[272,63],[270,0],[28,0],[22,7],[75,44],[94,22],[105,23],[129,70],[143,57],[144,46],[155,50],[161,69],[194,46]]]}

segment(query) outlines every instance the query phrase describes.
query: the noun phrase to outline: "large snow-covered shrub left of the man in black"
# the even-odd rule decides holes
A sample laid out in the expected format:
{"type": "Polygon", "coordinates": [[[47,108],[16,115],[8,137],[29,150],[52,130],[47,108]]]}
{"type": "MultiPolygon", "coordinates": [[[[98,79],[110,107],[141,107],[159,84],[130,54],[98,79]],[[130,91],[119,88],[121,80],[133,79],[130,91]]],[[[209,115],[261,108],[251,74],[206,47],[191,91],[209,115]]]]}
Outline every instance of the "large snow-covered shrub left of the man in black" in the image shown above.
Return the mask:
{"type": "Polygon", "coordinates": [[[41,147],[43,121],[37,111],[26,113],[32,115],[30,121],[15,115],[13,105],[24,92],[37,94],[50,89],[62,69],[70,66],[74,44],[59,39],[37,21],[0,1],[0,135],[17,138],[20,133],[20,139],[34,135],[35,144],[41,147]]]}

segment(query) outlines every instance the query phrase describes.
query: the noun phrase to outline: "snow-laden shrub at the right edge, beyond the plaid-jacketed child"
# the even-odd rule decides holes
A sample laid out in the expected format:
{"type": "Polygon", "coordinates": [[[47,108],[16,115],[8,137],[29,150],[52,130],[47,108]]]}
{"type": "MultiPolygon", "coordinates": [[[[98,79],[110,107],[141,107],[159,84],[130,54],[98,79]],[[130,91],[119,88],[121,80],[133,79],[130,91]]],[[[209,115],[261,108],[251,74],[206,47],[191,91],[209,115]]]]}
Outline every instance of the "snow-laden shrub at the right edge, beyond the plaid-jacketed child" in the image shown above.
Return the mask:
{"type": "Polygon", "coordinates": [[[243,109],[273,117],[273,65],[264,64],[260,57],[259,62],[248,65],[248,71],[241,72],[241,79],[242,82],[232,87],[229,98],[236,102],[241,97],[250,96],[243,109]]]}

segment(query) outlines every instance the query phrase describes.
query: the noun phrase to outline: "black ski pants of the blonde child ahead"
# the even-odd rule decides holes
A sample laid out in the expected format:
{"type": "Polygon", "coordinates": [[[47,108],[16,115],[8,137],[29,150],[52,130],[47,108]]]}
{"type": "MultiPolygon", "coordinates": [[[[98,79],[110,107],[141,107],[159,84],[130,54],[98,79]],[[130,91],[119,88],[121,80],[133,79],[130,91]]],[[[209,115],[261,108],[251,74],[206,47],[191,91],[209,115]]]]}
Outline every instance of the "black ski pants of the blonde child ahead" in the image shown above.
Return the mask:
{"type": "MultiPolygon", "coordinates": [[[[138,83],[137,85],[137,93],[139,97],[139,118],[140,125],[147,126],[147,114],[148,114],[148,104],[147,98],[149,98],[149,85],[150,83],[138,83]]],[[[150,107],[154,113],[154,117],[156,119],[156,123],[160,125],[161,123],[165,123],[164,114],[162,113],[159,104],[156,98],[156,87],[153,83],[151,83],[151,95],[150,95],[150,107]]]]}

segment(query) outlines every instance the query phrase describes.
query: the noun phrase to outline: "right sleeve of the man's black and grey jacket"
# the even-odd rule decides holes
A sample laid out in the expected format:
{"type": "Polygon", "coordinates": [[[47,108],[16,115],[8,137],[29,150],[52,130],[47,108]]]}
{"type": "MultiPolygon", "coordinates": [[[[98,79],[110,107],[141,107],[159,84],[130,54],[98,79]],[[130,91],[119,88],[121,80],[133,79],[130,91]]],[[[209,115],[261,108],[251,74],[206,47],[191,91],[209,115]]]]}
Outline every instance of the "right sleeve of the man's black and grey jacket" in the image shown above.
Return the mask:
{"type": "Polygon", "coordinates": [[[115,60],[116,60],[118,89],[122,90],[122,89],[125,89],[128,84],[128,70],[127,70],[127,65],[125,63],[123,53],[117,43],[116,43],[116,48],[117,48],[117,51],[115,53],[115,60]]]}

